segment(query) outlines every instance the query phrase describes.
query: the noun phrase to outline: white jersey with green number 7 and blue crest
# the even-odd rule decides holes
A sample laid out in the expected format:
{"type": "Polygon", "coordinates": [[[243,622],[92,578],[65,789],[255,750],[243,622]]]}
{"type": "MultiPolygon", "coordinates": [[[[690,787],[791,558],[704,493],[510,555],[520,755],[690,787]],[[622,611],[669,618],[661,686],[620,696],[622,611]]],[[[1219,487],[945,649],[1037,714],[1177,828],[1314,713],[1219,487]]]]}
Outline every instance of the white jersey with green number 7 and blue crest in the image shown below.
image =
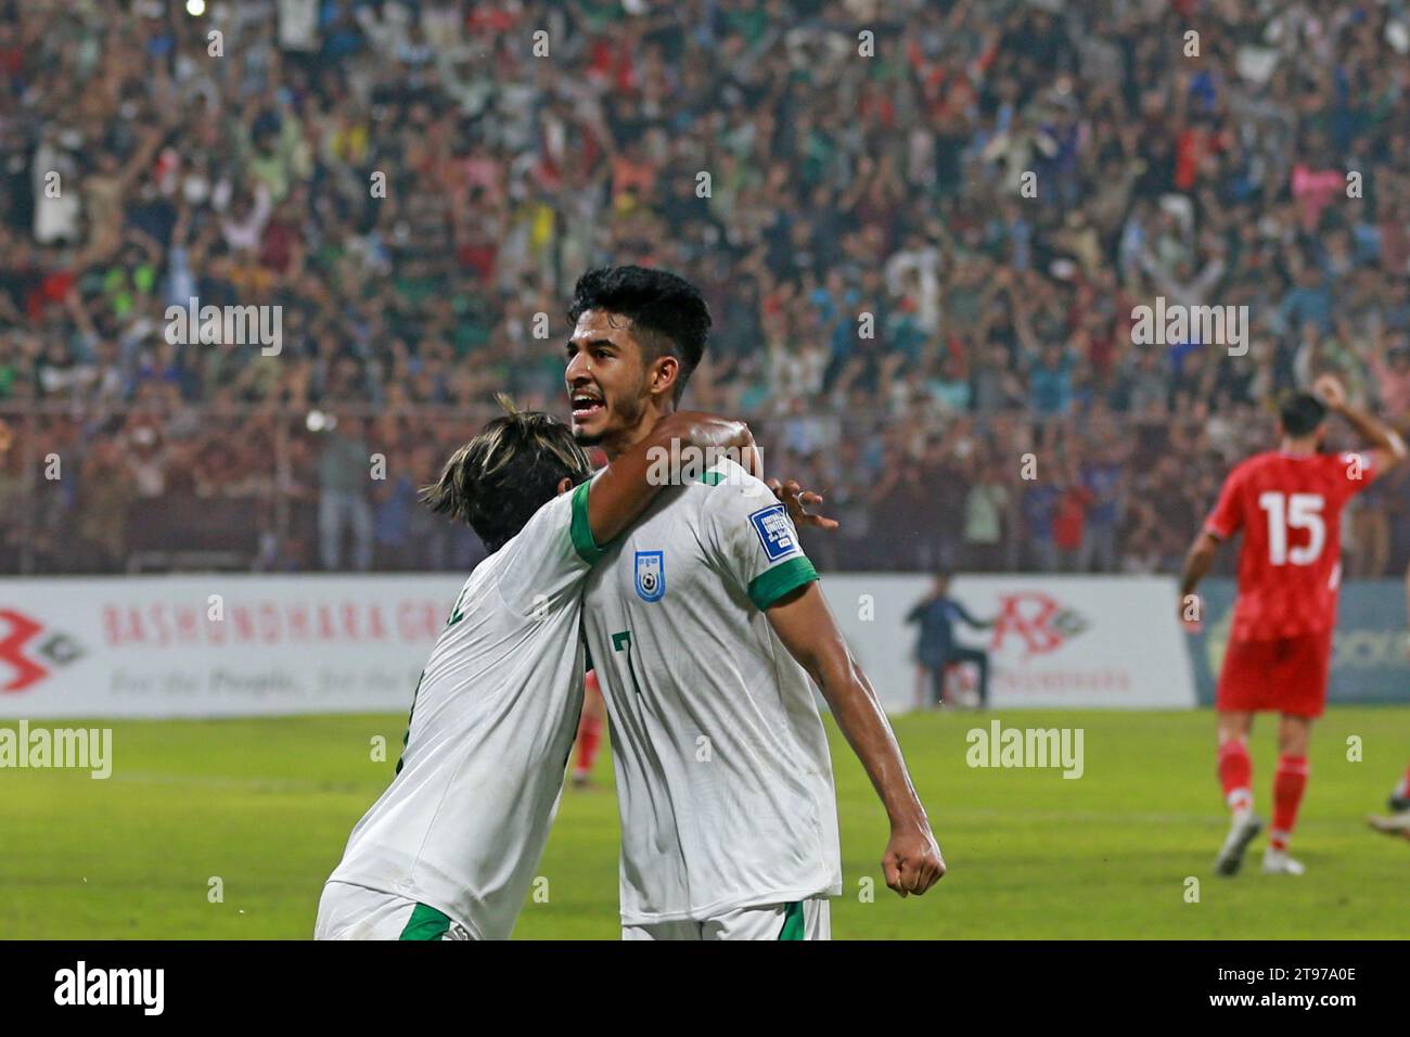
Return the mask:
{"type": "Polygon", "coordinates": [[[625,926],[842,892],[812,683],[761,611],[815,578],[784,507],[728,460],[663,490],[588,576],[625,926]]]}

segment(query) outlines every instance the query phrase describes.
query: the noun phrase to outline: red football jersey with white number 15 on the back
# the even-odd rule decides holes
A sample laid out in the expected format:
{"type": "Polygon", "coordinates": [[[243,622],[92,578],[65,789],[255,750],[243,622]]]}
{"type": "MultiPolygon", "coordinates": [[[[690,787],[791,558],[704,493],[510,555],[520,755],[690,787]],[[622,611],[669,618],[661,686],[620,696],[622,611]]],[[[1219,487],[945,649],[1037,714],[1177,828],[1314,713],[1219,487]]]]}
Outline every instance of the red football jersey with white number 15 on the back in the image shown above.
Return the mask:
{"type": "Polygon", "coordinates": [[[1221,540],[1239,529],[1235,641],[1325,631],[1337,622],[1341,509],[1376,477],[1369,454],[1268,451],[1224,480],[1204,529],[1221,540]]]}

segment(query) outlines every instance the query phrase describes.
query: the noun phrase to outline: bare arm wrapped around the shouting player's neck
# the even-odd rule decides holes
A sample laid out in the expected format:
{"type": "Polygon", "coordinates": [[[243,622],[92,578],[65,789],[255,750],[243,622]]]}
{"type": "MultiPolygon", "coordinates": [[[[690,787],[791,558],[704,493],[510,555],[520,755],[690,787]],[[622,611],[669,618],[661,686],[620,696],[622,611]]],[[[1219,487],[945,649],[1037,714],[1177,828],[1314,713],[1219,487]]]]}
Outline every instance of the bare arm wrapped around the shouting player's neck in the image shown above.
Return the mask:
{"type": "Polygon", "coordinates": [[[677,411],[657,422],[651,435],[626,450],[592,483],[588,491],[588,526],[592,539],[608,543],[622,533],[678,471],[678,449],[737,450],[757,459],[754,437],[743,422],[677,411]]]}

